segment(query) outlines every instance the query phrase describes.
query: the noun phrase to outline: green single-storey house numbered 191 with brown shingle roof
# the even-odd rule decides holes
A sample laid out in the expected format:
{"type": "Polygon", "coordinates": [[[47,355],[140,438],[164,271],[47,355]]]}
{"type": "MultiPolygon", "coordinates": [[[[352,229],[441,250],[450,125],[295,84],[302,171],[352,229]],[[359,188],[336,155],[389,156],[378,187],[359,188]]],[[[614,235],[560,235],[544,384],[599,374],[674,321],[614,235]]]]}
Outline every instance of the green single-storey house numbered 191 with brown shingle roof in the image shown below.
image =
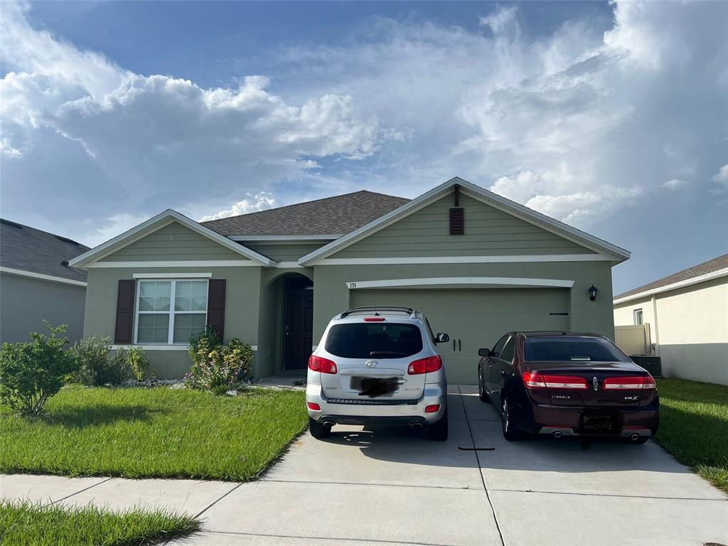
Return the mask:
{"type": "Polygon", "coordinates": [[[160,376],[189,369],[208,323],[253,347],[256,376],[302,373],[335,314],[398,305],[450,335],[448,379],[474,383],[478,349],[509,329],[613,338],[611,268],[628,258],[453,178],[412,200],[358,191],[203,223],[166,210],[71,264],[89,272],[84,334],[140,344],[160,376]]]}

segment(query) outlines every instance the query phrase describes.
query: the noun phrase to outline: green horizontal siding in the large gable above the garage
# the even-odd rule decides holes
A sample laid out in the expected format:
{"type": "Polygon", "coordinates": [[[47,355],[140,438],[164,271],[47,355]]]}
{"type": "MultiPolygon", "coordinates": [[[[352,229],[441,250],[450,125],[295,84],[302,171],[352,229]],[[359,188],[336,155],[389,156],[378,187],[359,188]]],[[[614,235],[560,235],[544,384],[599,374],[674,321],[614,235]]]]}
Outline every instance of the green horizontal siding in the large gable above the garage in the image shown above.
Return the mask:
{"type": "Polygon", "coordinates": [[[452,194],[373,233],[330,258],[584,254],[592,250],[461,194],[464,235],[450,234],[452,194]]]}

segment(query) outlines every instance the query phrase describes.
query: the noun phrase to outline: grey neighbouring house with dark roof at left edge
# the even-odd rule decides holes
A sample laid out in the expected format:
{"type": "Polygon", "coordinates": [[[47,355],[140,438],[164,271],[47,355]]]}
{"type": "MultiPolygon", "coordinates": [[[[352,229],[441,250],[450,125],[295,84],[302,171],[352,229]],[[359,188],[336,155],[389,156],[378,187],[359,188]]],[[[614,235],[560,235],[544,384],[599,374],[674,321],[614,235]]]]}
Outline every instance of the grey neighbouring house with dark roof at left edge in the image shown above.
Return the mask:
{"type": "Polygon", "coordinates": [[[0,342],[30,341],[31,332],[46,332],[43,320],[67,324],[68,339],[81,339],[86,272],[68,261],[87,250],[66,237],[0,219],[0,342]]]}

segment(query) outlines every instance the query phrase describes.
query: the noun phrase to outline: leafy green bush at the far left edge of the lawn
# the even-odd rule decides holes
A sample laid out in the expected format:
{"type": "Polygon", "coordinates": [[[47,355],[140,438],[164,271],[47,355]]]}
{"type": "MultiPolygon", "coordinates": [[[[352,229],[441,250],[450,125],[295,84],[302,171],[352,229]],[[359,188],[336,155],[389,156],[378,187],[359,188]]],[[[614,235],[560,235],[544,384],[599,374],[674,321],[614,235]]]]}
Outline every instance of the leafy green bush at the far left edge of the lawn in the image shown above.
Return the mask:
{"type": "Polygon", "coordinates": [[[2,344],[0,348],[0,403],[37,415],[45,403],[63,387],[76,363],[64,346],[66,325],[52,327],[50,336],[33,332],[30,342],[2,344]]]}

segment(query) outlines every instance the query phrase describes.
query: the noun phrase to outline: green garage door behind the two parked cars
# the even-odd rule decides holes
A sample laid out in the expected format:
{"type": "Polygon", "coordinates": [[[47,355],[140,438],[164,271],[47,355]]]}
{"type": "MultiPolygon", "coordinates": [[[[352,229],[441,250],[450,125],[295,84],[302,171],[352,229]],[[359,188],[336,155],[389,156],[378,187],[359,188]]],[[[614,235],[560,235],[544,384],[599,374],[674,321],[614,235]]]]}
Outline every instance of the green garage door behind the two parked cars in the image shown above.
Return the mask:
{"type": "Polygon", "coordinates": [[[352,307],[397,305],[423,312],[435,333],[450,342],[438,349],[450,383],[478,381],[478,349],[493,347],[513,330],[568,330],[569,290],[564,288],[448,288],[352,290],[352,307]]]}

